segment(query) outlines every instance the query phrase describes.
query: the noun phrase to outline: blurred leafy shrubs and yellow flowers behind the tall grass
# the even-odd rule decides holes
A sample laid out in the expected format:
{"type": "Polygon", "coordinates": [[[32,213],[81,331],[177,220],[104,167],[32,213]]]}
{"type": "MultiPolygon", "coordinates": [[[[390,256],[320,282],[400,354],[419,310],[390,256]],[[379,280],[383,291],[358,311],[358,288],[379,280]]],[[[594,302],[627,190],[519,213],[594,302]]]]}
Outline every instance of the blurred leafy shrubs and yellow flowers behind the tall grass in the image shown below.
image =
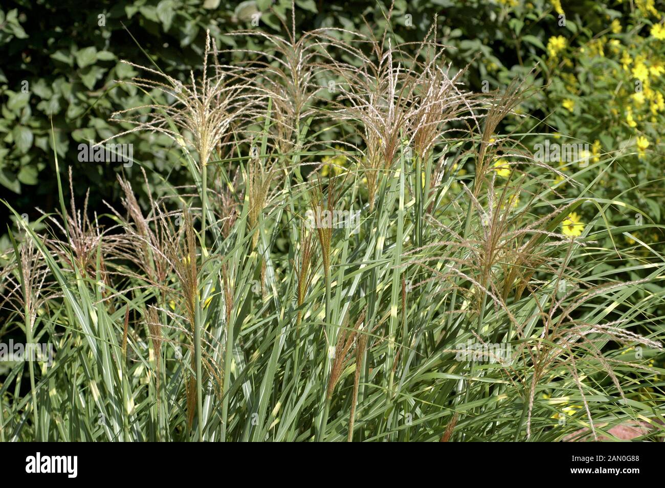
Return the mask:
{"type": "MultiPolygon", "coordinates": [[[[380,32],[390,7],[373,0],[295,3],[297,31],[340,27],[368,33],[372,25],[380,32]]],[[[185,81],[199,68],[206,29],[221,49],[265,52],[271,48],[261,37],[226,34],[238,29],[285,34],[290,7],[291,0],[5,0],[0,9],[0,197],[31,220],[41,215],[35,207],[55,209],[51,124],[62,176],[65,168],[73,169],[77,198],[90,189],[90,211],[107,211],[104,200],[116,206],[118,172],[134,183],[142,205],[147,195],[141,166],[156,191],[188,183],[178,150],[158,135],[116,140],[134,144],[132,168],[78,162],[78,144],[121,132],[108,120],[112,112],[150,103],[148,94],[116,82],[138,74],[120,60],[154,62],[185,81]],[[253,25],[256,14],[258,26],[253,25]]],[[[596,192],[606,191],[608,198],[623,194],[648,214],[642,218],[660,223],[665,203],[658,130],[665,113],[663,10],[652,0],[397,0],[390,29],[396,39],[417,41],[436,15],[437,37],[450,46],[450,62],[457,68],[471,64],[465,82],[478,92],[531,76],[543,89],[521,104],[523,117],[508,118],[503,130],[529,133],[527,147],[547,133],[561,142],[588,142],[592,162],[602,164],[579,181],[599,179],[596,192]]],[[[228,56],[222,59],[240,61],[228,56]]],[[[164,102],[156,93],[150,96],[164,102]]],[[[571,185],[558,190],[575,196],[571,185]]],[[[9,221],[6,207],[0,212],[9,221]]],[[[615,225],[638,218],[634,211],[608,212],[615,225]]],[[[6,249],[7,237],[2,239],[0,247],[6,249]]],[[[662,240],[654,233],[640,239],[662,240]]]]}

